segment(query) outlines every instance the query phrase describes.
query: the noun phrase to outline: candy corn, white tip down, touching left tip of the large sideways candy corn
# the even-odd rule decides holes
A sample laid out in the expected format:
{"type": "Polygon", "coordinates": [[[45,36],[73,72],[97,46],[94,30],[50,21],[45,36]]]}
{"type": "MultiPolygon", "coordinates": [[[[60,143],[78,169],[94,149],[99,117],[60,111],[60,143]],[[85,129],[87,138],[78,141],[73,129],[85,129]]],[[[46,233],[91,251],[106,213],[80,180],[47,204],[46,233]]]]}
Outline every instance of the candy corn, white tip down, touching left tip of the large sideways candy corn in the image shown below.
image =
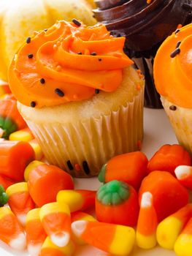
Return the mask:
{"type": "Polygon", "coordinates": [[[71,236],[69,206],[62,203],[47,203],[40,209],[42,226],[56,246],[66,246],[71,236]]]}

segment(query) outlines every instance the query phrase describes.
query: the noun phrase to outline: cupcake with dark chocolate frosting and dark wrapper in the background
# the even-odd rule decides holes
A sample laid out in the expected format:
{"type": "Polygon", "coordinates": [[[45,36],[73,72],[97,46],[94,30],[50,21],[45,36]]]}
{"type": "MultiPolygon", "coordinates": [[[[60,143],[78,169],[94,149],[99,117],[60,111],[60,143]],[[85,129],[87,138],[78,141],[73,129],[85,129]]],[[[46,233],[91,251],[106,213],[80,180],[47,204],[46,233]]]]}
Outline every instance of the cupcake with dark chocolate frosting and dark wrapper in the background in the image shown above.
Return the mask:
{"type": "Polygon", "coordinates": [[[145,75],[145,106],[161,108],[153,82],[153,60],[177,26],[191,22],[191,0],[95,0],[96,19],[116,37],[126,37],[126,54],[145,75]]]}

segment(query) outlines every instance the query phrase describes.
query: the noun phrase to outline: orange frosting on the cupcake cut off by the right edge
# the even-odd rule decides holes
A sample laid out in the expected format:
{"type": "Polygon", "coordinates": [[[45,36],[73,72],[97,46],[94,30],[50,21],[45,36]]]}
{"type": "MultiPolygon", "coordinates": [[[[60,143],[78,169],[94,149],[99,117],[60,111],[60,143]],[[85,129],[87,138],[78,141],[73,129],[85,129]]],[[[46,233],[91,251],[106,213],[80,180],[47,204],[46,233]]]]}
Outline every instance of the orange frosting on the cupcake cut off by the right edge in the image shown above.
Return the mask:
{"type": "Polygon", "coordinates": [[[159,94],[175,105],[192,108],[192,24],[177,29],[161,45],[154,79],[159,94]]]}

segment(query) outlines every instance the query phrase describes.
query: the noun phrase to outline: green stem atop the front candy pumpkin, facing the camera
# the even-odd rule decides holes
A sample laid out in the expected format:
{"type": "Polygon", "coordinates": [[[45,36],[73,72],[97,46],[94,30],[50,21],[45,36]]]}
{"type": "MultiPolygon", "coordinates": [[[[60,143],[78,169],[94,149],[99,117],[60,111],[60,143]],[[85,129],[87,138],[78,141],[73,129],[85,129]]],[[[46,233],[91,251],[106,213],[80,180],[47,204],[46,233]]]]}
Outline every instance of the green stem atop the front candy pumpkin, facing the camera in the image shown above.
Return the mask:
{"type": "Polygon", "coordinates": [[[96,196],[105,206],[117,206],[128,200],[130,191],[125,182],[110,181],[99,188],[96,196]]]}

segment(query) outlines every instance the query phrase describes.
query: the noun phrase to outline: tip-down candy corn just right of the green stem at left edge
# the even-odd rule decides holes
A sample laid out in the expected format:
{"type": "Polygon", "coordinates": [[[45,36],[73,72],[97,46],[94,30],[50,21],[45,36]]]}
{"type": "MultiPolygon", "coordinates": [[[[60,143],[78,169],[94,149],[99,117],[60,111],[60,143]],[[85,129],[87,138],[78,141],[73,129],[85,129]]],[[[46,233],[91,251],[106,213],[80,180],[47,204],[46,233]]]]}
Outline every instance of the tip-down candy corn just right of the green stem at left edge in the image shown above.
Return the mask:
{"type": "Polygon", "coordinates": [[[35,204],[28,193],[26,182],[20,182],[9,186],[6,190],[9,197],[9,206],[18,218],[19,222],[26,225],[26,214],[35,208],[35,204]]]}

